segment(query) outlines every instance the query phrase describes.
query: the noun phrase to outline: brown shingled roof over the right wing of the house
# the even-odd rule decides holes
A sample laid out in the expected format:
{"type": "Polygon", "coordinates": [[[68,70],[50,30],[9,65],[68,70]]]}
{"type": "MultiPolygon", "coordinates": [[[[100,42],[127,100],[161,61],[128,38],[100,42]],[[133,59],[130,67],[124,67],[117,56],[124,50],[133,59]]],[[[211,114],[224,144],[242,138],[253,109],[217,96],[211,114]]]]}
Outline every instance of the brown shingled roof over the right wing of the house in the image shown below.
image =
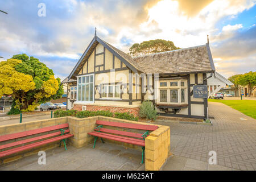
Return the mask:
{"type": "Polygon", "coordinates": [[[144,73],[214,72],[209,44],[133,57],[144,73]]]}

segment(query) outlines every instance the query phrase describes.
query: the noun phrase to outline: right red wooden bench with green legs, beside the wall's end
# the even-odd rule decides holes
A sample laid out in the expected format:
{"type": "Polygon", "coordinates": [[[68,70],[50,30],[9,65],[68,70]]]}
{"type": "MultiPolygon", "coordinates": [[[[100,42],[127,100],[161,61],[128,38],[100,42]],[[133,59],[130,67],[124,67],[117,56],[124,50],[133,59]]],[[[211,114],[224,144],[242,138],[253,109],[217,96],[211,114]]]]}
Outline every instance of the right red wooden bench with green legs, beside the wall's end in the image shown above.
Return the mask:
{"type": "Polygon", "coordinates": [[[148,131],[154,131],[158,129],[158,126],[153,125],[141,125],[141,124],[134,124],[134,123],[119,123],[119,122],[110,122],[110,121],[96,121],[97,126],[89,135],[94,137],[94,145],[95,148],[96,140],[98,137],[101,138],[102,143],[104,140],[102,138],[116,140],[118,142],[130,143],[135,144],[137,146],[142,147],[142,160],[141,163],[143,164],[144,159],[144,150],[145,150],[145,138],[149,135],[148,131]],[[114,126],[114,127],[123,127],[127,129],[138,129],[138,130],[146,130],[145,133],[132,133],[129,131],[119,131],[119,130],[112,130],[106,129],[103,126],[114,126]],[[125,137],[124,137],[125,136],[125,137]]]}

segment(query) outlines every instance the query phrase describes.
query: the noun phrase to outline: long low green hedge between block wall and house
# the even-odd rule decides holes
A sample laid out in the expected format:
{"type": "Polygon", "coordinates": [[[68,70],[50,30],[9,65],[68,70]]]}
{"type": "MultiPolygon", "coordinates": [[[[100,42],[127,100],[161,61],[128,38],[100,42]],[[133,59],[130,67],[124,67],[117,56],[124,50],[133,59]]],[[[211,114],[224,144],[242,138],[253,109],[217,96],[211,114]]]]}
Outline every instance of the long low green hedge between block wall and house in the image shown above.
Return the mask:
{"type": "Polygon", "coordinates": [[[134,117],[134,115],[131,113],[112,113],[109,110],[98,110],[98,111],[56,110],[54,112],[55,118],[65,117],[65,116],[74,116],[77,118],[87,118],[87,117],[93,117],[96,115],[102,115],[105,117],[114,117],[114,118],[119,118],[119,119],[127,119],[127,120],[131,120],[131,121],[138,121],[138,118],[134,117]]]}

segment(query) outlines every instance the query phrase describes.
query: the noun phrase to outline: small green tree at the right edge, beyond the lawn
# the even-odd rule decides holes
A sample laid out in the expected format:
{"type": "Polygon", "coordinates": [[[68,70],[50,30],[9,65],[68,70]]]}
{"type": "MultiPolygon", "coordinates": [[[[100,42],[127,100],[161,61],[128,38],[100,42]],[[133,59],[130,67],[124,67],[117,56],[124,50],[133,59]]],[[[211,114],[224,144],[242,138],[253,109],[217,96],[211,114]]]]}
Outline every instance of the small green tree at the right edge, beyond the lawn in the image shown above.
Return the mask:
{"type": "Polygon", "coordinates": [[[256,88],[256,72],[248,72],[237,78],[239,85],[248,87],[248,97],[251,97],[251,91],[256,88]]]}

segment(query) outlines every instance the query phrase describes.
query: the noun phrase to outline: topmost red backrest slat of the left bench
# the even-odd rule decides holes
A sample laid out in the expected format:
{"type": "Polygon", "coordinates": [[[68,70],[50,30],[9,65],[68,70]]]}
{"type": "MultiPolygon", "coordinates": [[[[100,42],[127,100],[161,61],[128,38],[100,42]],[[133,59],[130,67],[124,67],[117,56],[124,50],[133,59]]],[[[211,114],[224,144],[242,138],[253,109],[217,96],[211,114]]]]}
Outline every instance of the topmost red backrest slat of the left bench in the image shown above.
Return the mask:
{"type": "Polygon", "coordinates": [[[44,133],[47,131],[63,129],[65,127],[68,127],[68,123],[61,124],[61,125],[55,125],[55,126],[49,126],[49,127],[43,127],[42,129],[22,131],[19,133],[3,135],[3,136],[0,136],[0,142],[15,139],[15,138],[21,138],[21,137],[26,137],[26,136],[30,136],[30,135],[35,135],[35,134],[39,134],[39,133],[44,133]]]}

